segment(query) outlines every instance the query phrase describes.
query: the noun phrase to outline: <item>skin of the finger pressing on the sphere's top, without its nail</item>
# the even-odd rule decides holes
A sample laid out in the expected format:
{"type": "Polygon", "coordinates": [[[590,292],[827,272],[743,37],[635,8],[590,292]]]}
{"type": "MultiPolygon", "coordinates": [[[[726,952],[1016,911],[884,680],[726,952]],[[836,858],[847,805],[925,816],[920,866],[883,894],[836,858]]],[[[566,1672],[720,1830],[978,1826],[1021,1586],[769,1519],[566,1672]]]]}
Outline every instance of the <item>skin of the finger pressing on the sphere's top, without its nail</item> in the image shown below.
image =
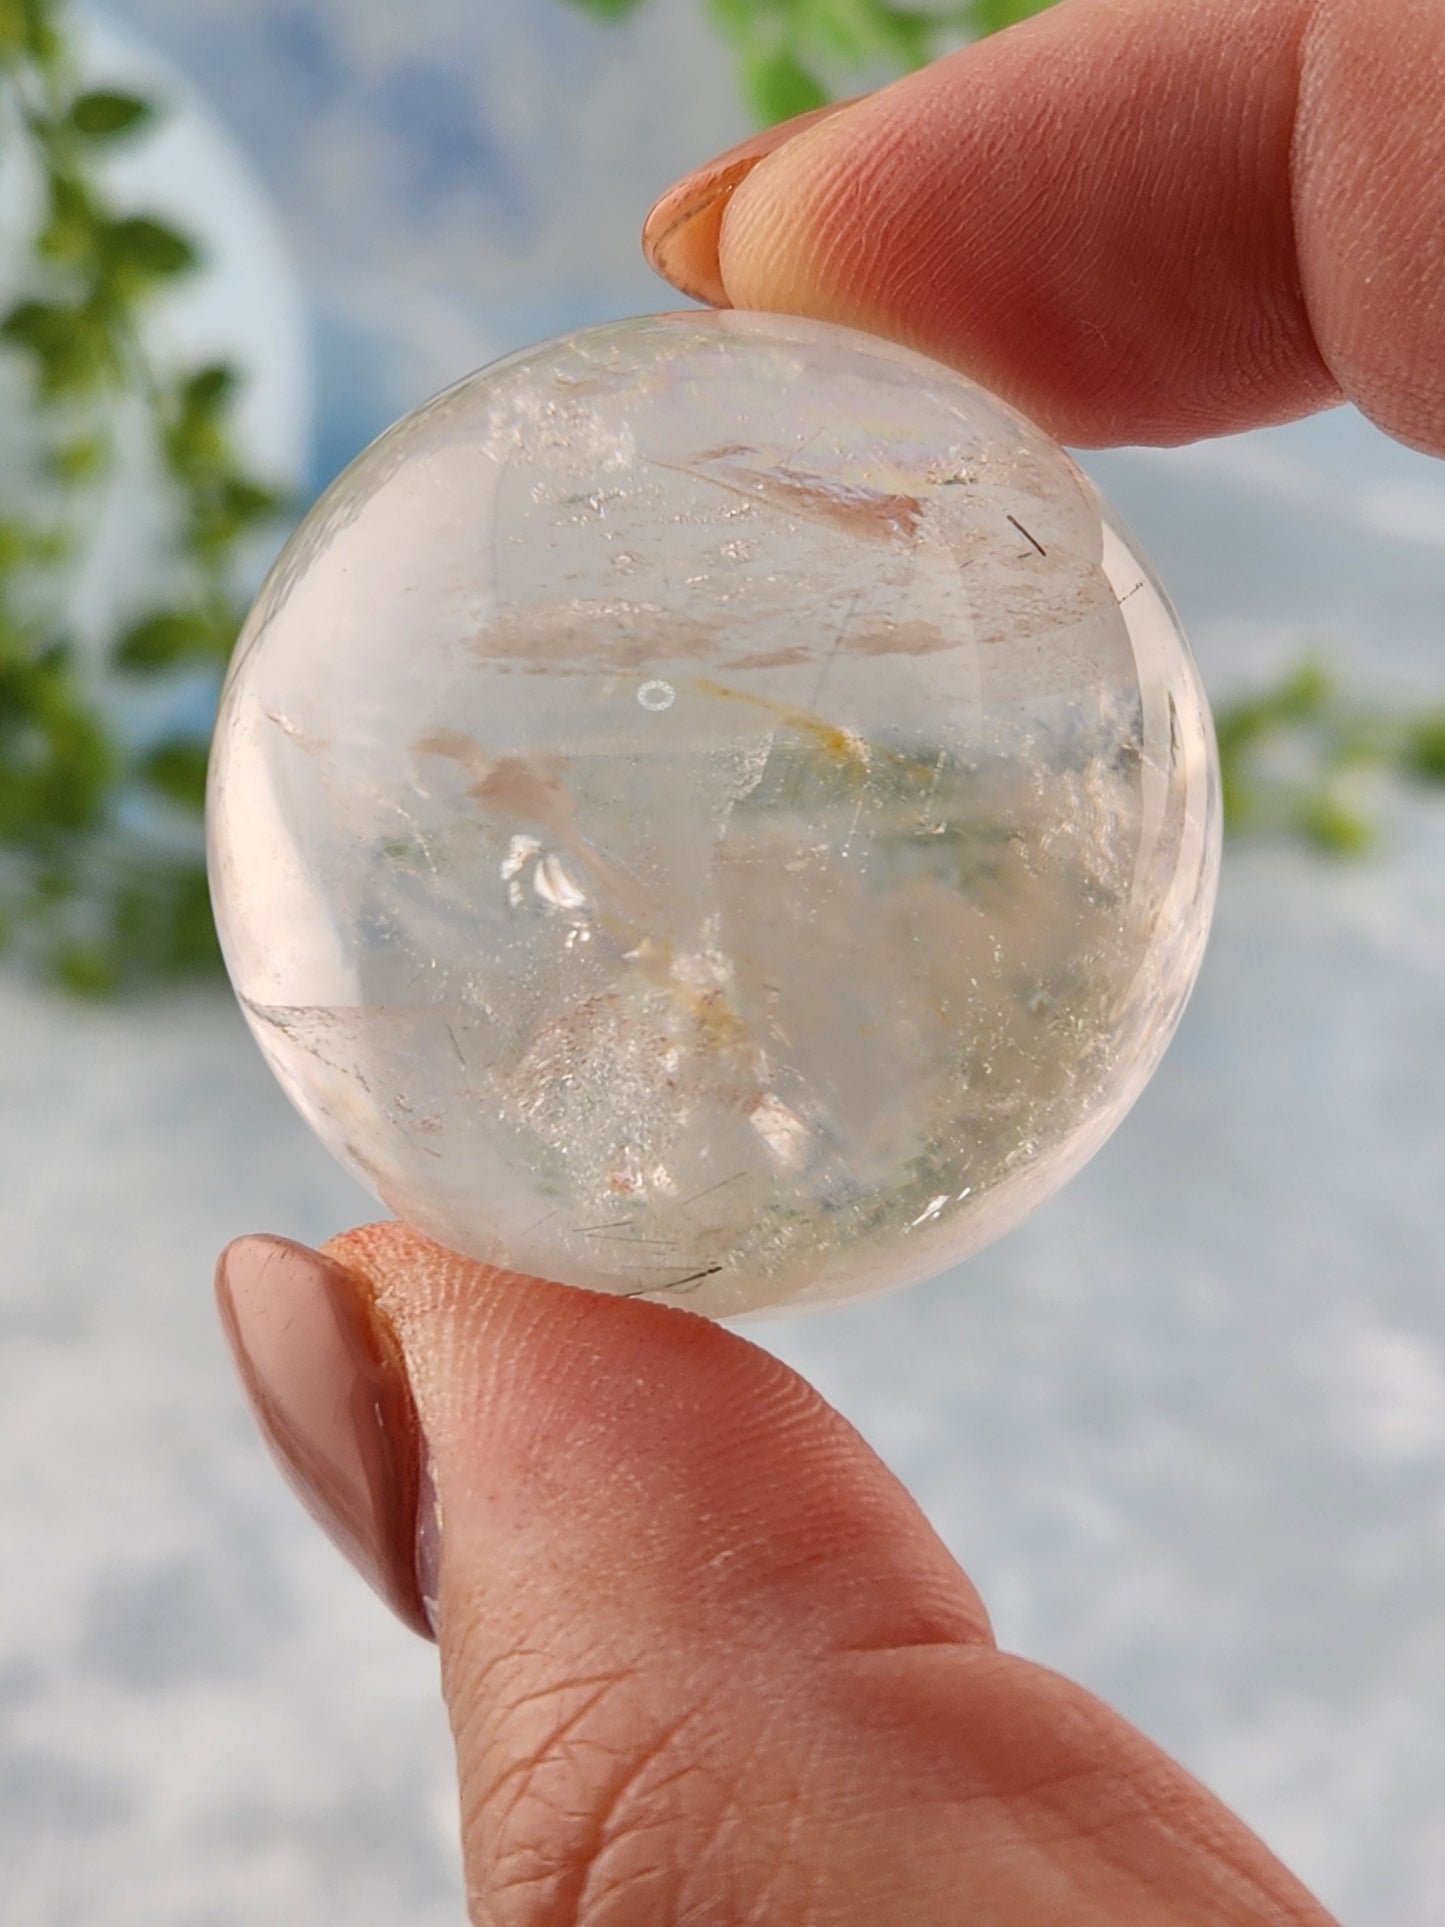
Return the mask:
{"type": "Polygon", "coordinates": [[[732,306],[906,341],[1073,443],[1347,397],[1445,451],[1439,0],[1064,0],[776,146],[717,227],[732,306]]]}

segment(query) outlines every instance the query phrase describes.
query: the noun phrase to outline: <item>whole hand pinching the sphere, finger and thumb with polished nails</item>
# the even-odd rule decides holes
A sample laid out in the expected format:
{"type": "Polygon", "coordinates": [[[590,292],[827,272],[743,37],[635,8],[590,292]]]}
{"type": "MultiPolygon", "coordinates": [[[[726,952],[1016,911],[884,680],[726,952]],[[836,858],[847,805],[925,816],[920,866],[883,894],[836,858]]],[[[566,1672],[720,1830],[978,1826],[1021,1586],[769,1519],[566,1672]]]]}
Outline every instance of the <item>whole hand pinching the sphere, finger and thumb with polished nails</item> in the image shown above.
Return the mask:
{"type": "MultiPolygon", "coordinates": [[[[1443,127],[1437,0],[1387,39],[1378,0],[1065,0],[703,170],[649,249],[1071,441],[1349,397],[1441,451],[1443,127]]],[[[435,1594],[476,1921],[1326,1923],[1110,1709],[998,1653],[917,1507],[740,1337],[395,1226],[329,1260],[245,1241],[222,1308],[312,1511],[418,1630],[435,1594]]]]}

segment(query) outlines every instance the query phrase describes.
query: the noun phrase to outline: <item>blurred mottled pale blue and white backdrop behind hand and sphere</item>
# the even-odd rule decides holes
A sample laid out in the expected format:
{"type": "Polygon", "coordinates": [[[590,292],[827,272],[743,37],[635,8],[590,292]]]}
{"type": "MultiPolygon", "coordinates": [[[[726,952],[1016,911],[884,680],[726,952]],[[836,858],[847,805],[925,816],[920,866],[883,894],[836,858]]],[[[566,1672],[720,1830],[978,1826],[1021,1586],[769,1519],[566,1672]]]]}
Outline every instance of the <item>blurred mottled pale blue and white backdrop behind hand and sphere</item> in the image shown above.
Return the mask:
{"type": "MultiPolygon", "coordinates": [[[[642,214],[748,127],[697,0],[112,0],[91,31],[96,73],[175,106],[131,189],[208,237],[158,326],[243,370],[241,455],[297,497],[489,356],[670,304],[642,214]]],[[[1312,653],[1439,705],[1437,464],[1341,410],[1089,466],[1216,700],[1312,653]]],[[[133,526],[108,540],[81,630],[137,594],[133,526]]],[[[933,1285],[757,1335],[919,1493],[1004,1644],[1177,1752],[1347,1927],[1428,1927],[1445,802],[1370,782],[1362,858],[1227,850],[1179,1039],[1064,1197],[933,1285]]],[[[276,1480],[210,1305],[231,1235],[372,1212],[223,989],[0,975],[6,1923],[462,1919],[434,1655],[276,1480]]]]}

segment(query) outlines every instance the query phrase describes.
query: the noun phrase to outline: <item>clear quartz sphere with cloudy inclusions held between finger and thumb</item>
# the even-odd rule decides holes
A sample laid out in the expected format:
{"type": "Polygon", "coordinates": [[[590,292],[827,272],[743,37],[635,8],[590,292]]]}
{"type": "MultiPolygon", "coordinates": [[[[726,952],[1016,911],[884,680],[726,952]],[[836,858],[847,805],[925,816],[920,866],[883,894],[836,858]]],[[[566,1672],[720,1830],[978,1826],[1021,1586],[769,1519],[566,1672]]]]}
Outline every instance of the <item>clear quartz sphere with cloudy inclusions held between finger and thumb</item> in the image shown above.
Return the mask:
{"type": "Polygon", "coordinates": [[[938,1272],[1079,1170],[1189,996],[1218,796],[1177,620],[1040,430],[667,314],[318,503],[225,688],[212,886],[397,1216],[730,1316],[938,1272]]]}

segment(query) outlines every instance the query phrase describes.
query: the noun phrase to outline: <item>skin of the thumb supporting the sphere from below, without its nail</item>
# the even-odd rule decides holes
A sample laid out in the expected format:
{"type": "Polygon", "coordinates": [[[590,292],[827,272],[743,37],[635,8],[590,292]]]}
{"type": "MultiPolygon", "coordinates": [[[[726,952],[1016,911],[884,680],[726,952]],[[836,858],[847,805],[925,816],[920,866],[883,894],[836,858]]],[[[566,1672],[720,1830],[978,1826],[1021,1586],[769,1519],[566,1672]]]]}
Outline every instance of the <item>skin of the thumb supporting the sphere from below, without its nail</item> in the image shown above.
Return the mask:
{"type": "Polygon", "coordinates": [[[801,1380],[694,1318],[329,1247],[408,1362],[487,1927],[1326,1927],[1218,1802],[1000,1653],[801,1380]]]}

